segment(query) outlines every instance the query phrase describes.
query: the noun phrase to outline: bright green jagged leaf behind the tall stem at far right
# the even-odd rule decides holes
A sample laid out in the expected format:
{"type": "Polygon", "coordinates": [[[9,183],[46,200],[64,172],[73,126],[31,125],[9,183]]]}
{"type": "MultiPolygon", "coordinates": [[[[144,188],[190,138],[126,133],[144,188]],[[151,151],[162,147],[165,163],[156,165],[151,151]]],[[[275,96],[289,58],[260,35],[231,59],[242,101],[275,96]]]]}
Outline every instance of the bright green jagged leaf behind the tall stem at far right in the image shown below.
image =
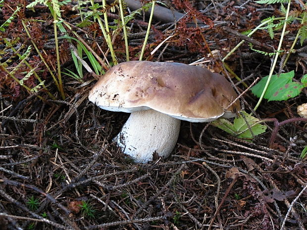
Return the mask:
{"type": "MultiPolygon", "coordinates": [[[[289,73],[282,73],[279,75],[272,75],[271,81],[264,93],[264,98],[268,101],[271,100],[288,100],[300,94],[304,86],[301,83],[293,82],[294,71],[289,73]]],[[[264,86],[267,82],[268,76],[262,78],[256,86],[251,88],[251,91],[260,97],[264,86]]],[[[304,78],[305,79],[305,78],[304,78]]],[[[304,80],[303,79],[303,80],[304,80]]],[[[305,80],[304,80],[305,81],[305,80]]]]}

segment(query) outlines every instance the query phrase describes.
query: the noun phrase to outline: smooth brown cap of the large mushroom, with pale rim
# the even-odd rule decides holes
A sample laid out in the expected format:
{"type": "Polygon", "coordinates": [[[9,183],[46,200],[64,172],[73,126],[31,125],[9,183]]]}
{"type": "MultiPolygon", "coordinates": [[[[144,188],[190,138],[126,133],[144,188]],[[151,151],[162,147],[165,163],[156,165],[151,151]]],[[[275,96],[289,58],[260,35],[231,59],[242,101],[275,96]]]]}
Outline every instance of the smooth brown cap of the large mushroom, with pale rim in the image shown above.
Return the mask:
{"type": "Polygon", "coordinates": [[[154,109],[190,122],[207,122],[239,111],[230,83],[220,74],[175,62],[129,61],[107,71],[89,99],[105,110],[154,109]]]}

